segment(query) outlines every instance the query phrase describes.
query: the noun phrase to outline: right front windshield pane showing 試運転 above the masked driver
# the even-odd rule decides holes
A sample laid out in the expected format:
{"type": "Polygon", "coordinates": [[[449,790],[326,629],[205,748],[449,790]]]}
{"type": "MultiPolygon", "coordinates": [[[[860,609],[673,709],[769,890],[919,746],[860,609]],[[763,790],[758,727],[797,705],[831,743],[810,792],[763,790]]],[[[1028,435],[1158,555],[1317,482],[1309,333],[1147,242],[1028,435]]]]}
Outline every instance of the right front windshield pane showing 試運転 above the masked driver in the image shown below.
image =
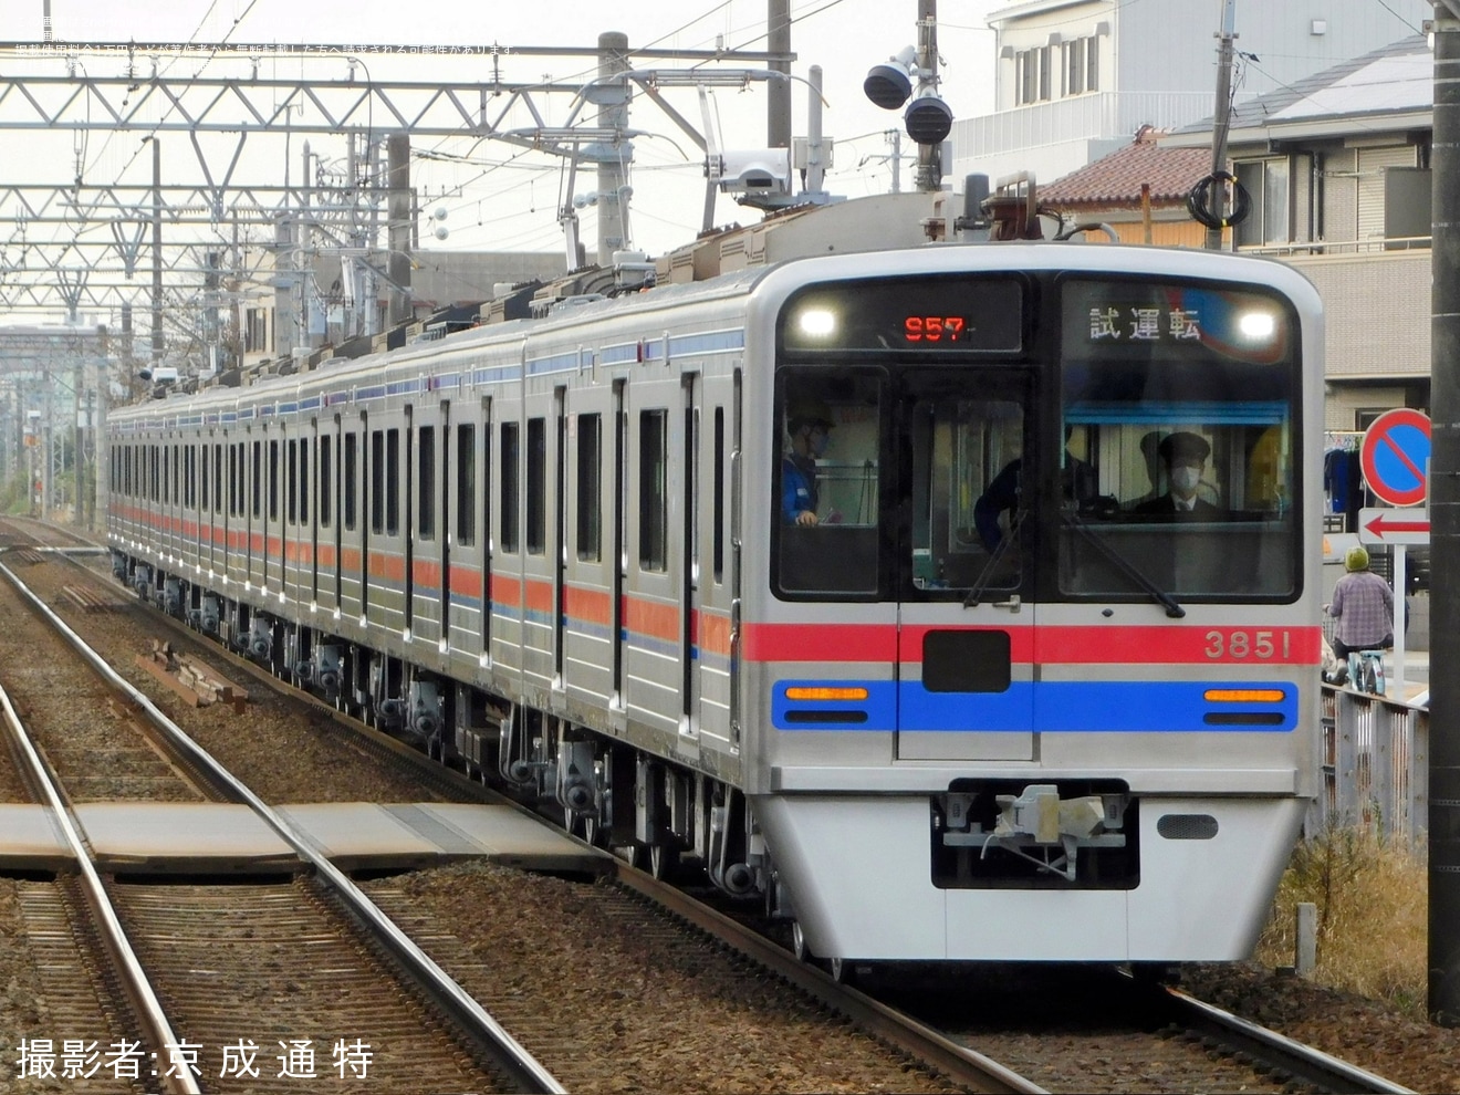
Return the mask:
{"type": "Polygon", "coordinates": [[[1060,594],[1288,599],[1298,588],[1296,327],[1231,288],[1063,286],[1061,428],[1080,492],[1060,594]]]}

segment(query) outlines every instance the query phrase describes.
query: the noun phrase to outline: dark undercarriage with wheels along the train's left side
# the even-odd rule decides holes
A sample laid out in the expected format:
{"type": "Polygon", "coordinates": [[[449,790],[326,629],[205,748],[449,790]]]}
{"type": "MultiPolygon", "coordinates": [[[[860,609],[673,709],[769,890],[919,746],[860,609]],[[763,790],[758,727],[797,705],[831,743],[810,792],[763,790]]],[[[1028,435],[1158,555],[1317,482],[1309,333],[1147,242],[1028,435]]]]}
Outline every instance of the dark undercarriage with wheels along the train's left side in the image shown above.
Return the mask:
{"type": "Polygon", "coordinates": [[[562,715],[223,597],[112,550],[136,596],[342,714],[552,818],[656,877],[702,872],[790,915],[745,794],[562,715]]]}

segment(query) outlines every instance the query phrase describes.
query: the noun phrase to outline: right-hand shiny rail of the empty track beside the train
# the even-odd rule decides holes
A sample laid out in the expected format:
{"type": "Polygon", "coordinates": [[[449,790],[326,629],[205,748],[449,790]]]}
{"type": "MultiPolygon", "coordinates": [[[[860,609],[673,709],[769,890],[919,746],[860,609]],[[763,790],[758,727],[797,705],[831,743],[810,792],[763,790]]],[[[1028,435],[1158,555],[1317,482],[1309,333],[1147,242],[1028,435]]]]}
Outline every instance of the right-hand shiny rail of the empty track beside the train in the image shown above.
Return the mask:
{"type": "MultiPolygon", "coordinates": [[[[218,780],[231,793],[238,796],[238,802],[247,803],[279,837],[289,844],[301,858],[310,863],[317,877],[336,895],[345,908],[361,921],[381,942],[402,965],[418,980],[419,987],[431,997],[432,1003],[441,1007],[464,1029],[472,1031],[477,1038],[491,1045],[496,1053],[505,1056],[505,1069],[511,1073],[514,1083],[526,1091],[549,1092],[550,1095],[566,1095],[566,1088],[549,1073],[511,1034],[502,1028],[470,993],[461,988],[437,962],[422,950],[400,927],[387,917],[380,907],[371,901],[364,891],[356,886],[347,875],[323,856],[298,829],[280,818],[263,799],[253,793],[232,772],[223,768],[197,742],[188,737],[181,727],[168,718],[147,695],[118,675],[108,666],[96,651],[93,651],[72,628],[57,616],[45,602],[36,597],[10,568],[0,564],[0,574],[23,596],[31,606],[45,618],[72,644],[98,673],[101,673],[118,692],[136,704],[147,718],[166,734],[171,745],[188,759],[203,768],[212,778],[218,780]]],[[[174,1042],[175,1044],[175,1042],[174,1042]]],[[[193,1089],[196,1091],[196,1089],[193,1089]]]]}

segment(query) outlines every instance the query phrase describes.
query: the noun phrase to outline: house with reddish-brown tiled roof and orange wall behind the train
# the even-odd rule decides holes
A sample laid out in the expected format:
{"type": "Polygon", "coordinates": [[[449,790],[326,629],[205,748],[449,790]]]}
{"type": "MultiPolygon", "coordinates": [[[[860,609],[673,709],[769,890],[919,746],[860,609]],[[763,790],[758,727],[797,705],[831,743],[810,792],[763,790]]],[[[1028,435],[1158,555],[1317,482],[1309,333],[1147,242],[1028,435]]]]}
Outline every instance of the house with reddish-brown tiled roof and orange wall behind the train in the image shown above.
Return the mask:
{"type": "Polygon", "coordinates": [[[1212,169],[1212,153],[1165,147],[1158,136],[1143,126],[1126,147],[1040,185],[1041,207],[1057,212],[1066,226],[1107,226],[1124,244],[1202,247],[1206,229],[1187,213],[1187,194],[1212,169]]]}

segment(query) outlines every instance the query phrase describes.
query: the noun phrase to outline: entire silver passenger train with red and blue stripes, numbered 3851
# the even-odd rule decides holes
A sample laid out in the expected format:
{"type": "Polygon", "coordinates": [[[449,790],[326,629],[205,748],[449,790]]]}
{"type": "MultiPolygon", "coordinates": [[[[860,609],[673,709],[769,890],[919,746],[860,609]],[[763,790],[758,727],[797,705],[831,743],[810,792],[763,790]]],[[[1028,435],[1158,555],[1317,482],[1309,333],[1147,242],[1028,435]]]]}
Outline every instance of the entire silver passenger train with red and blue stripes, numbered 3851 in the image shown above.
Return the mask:
{"type": "Polygon", "coordinates": [[[1280,263],[823,254],[114,410],[108,537],[835,967],[1238,959],[1318,788],[1321,397],[1280,263]]]}

